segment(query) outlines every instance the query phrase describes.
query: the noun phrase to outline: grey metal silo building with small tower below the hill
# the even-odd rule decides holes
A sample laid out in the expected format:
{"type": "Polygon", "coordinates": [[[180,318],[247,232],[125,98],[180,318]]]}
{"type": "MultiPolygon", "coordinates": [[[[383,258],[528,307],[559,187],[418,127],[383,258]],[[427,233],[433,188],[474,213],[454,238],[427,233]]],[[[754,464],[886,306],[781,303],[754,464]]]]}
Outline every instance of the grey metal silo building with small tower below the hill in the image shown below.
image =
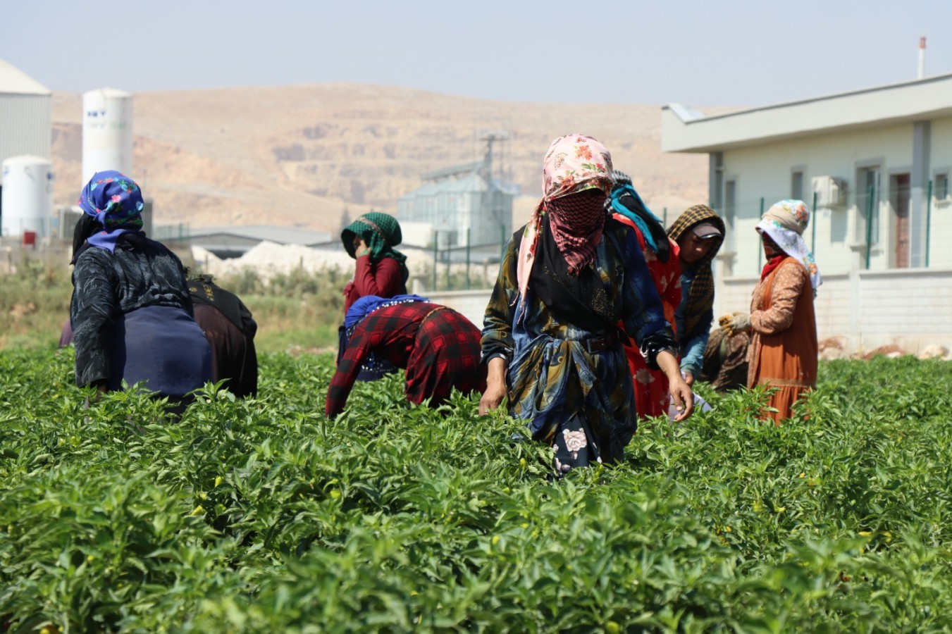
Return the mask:
{"type": "Polygon", "coordinates": [[[443,249],[473,248],[498,255],[500,245],[512,233],[512,194],[492,178],[493,144],[501,135],[485,137],[482,161],[429,172],[426,185],[397,201],[397,218],[410,228],[425,224],[432,234],[405,231],[404,241],[417,247],[435,239],[443,249]]]}

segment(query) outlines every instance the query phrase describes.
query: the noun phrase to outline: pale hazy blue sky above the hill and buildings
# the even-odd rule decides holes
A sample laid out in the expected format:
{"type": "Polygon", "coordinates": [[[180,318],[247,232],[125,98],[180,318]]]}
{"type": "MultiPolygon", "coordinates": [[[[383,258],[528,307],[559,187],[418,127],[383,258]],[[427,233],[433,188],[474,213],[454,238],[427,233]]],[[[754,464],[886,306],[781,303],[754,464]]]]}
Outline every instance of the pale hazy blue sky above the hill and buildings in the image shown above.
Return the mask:
{"type": "Polygon", "coordinates": [[[952,72],[952,0],[0,0],[57,91],[360,82],[507,101],[755,106],[952,72]]]}

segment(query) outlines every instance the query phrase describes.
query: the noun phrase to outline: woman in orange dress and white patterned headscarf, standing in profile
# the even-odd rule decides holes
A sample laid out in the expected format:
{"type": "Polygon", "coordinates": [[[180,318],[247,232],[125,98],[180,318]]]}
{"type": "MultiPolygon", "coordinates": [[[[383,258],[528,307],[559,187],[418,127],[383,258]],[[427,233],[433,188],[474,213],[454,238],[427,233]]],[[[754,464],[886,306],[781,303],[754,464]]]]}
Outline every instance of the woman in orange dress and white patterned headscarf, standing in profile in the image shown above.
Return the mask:
{"type": "Polygon", "coordinates": [[[725,330],[750,331],[747,386],[768,386],[766,412],[774,425],[789,418],[803,392],[817,385],[817,323],[813,297],[822,284],[813,254],[803,242],[810,212],[799,200],[767,209],[757,226],[767,263],[754,288],[750,314],[724,315],[725,330]]]}

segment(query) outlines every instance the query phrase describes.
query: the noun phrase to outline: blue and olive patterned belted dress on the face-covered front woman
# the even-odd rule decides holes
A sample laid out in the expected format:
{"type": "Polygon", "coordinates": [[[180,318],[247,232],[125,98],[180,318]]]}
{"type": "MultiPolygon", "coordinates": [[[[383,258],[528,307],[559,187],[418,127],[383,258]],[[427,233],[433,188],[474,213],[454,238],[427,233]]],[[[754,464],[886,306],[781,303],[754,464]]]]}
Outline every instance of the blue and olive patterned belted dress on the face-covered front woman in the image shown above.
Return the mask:
{"type": "MultiPolygon", "coordinates": [[[[526,297],[519,296],[521,234],[517,231],[506,246],[486,307],[483,361],[506,358],[509,412],[526,419],[534,439],[555,448],[558,470],[620,460],[637,428],[625,350],[619,343],[589,351],[586,342],[604,332],[560,321],[531,285],[526,297]]],[[[632,230],[607,222],[593,264],[615,322],[643,348],[652,339],[673,345],[632,230]]],[[[657,351],[649,355],[652,366],[657,351]]]]}

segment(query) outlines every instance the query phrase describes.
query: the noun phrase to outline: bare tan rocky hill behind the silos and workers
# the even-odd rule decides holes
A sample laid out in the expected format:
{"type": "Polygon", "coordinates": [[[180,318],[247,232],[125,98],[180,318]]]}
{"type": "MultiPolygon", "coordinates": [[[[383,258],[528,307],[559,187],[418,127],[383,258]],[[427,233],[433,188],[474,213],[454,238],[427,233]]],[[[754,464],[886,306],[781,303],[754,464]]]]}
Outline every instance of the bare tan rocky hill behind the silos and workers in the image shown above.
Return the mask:
{"type": "MultiPolygon", "coordinates": [[[[53,97],[56,202],[82,186],[82,97],[53,97]]],[[[137,93],[132,176],[156,222],[334,229],[370,208],[393,211],[420,174],[482,158],[487,129],[506,130],[497,168],[520,186],[525,221],[551,139],[603,141],[659,215],[706,200],[704,155],[663,154],[660,108],[508,103],[354,84],[137,93]]]]}

